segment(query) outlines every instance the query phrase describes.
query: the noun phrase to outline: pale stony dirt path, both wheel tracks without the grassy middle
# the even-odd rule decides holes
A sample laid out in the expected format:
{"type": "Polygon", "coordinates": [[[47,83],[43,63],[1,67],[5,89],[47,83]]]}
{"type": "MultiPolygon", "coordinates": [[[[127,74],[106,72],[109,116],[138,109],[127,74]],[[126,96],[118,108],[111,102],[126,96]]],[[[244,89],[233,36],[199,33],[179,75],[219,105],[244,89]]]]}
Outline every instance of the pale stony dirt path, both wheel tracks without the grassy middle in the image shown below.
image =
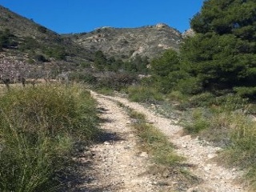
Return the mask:
{"type": "Polygon", "coordinates": [[[112,137],[91,149],[94,154],[95,178],[84,185],[90,190],[82,191],[166,191],[157,185],[154,176],[146,174],[150,161],[147,155],[136,147],[138,138],[129,126],[130,118],[116,102],[122,102],[125,106],[145,114],[147,121],[158,127],[170,138],[170,142],[177,146],[177,153],[185,156],[187,163],[194,165],[191,166],[190,171],[202,179],[201,184],[178,191],[246,191],[235,182],[241,177],[241,172],[236,169],[227,170],[210,161],[217,155],[216,152],[221,150],[220,148],[207,145],[190,136],[182,137],[179,134],[182,127],[175,126],[171,119],[162,118],[138,103],[129,102],[126,98],[91,93],[102,109],[102,118],[106,119],[106,122],[102,123],[103,129],[112,133],[112,137]]]}

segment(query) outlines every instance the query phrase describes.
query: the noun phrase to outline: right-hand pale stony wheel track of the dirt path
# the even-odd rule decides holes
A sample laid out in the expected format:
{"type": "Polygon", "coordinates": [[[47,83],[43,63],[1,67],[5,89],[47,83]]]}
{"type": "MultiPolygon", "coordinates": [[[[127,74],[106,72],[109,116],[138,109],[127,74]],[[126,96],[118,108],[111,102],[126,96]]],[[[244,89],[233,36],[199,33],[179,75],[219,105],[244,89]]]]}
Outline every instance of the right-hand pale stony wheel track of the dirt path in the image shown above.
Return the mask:
{"type": "MultiPolygon", "coordinates": [[[[93,92],[92,92],[93,93],[93,92]]],[[[93,95],[98,98],[94,93],[93,95]]],[[[174,122],[168,118],[162,118],[158,114],[147,110],[142,105],[136,102],[129,102],[126,98],[102,96],[101,98],[109,99],[114,102],[122,102],[125,106],[146,115],[147,121],[158,127],[162,133],[170,138],[170,142],[178,147],[176,152],[187,158],[187,163],[190,163],[192,168],[190,172],[198,178],[202,178],[202,183],[198,186],[193,186],[186,191],[200,192],[243,192],[246,191],[243,186],[239,185],[238,178],[242,177],[242,172],[237,169],[226,169],[218,166],[211,158],[217,156],[218,147],[210,146],[206,142],[202,142],[197,138],[191,138],[190,135],[181,136],[179,133],[182,130],[181,126],[175,126],[174,122]]],[[[111,105],[105,103],[104,105],[111,105]]],[[[114,106],[109,106],[113,108],[114,106]]],[[[122,113],[122,110],[114,110],[114,115],[122,113]]],[[[121,118],[121,117],[120,117],[121,118]]],[[[132,191],[132,190],[130,190],[132,191]]],[[[138,190],[139,191],[139,190],[138,190]]],[[[150,191],[150,190],[144,190],[150,191]]]]}

